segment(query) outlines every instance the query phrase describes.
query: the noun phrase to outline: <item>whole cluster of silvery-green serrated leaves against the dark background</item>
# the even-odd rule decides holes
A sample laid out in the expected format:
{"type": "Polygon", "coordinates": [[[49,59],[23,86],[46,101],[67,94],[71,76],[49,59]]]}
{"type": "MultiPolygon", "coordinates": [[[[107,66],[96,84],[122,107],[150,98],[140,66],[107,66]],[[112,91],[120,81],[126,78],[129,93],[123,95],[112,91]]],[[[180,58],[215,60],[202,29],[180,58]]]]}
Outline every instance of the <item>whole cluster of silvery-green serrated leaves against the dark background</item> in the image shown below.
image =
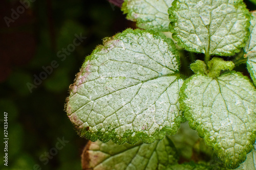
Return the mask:
{"type": "Polygon", "coordinates": [[[146,30],[105,38],[70,87],[68,116],[91,140],[84,168],[256,169],[256,15],[242,0],[126,0],[122,10],[146,30]],[[189,78],[180,73],[177,45],[205,55],[190,64],[189,78]],[[232,71],[238,63],[251,80],[232,71]],[[178,164],[172,140],[190,148],[198,140],[168,137],[186,121],[216,160],[178,164]]]}

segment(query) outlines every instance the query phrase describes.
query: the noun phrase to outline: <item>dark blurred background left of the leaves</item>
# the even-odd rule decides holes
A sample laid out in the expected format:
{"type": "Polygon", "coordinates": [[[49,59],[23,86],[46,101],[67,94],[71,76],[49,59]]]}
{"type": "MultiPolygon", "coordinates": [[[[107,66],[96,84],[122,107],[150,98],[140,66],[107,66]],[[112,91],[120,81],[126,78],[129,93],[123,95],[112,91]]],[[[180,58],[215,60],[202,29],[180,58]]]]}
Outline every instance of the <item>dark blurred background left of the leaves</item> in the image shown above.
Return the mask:
{"type": "Polygon", "coordinates": [[[1,0],[0,18],[0,169],[81,169],[87,140],[63,110],[69,85],[104,37],[135,23],[106,0],[1,0]]]}

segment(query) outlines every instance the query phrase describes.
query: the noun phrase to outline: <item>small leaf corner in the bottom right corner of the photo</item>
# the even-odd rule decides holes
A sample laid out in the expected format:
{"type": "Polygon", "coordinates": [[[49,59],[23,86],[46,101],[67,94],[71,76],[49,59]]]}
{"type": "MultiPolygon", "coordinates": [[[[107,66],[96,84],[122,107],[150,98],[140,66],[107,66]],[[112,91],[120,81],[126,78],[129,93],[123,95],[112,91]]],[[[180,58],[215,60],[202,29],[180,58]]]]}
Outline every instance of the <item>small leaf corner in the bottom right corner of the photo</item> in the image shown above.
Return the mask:
{"type": "Polygon", "coordinates": [[[256,145],[254,143],[254,147],[252,151],[247,154],[246,160],[237,168],[237,170],[244,170],[244,169],[250,169],[255,170],[256,169],[256,145]]]}

